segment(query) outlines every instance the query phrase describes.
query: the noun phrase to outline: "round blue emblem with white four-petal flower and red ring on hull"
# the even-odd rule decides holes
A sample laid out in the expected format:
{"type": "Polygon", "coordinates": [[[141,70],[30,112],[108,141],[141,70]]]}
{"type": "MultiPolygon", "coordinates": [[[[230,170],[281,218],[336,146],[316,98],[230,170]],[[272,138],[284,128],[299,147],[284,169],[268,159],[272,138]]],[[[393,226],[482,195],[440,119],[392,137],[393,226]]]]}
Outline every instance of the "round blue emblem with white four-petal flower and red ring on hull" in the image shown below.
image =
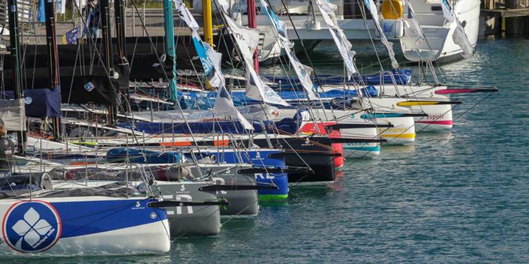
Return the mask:
{"type": "Polygon", "coordinates": [[[44,201],[15,203],[3,218],[3,237],[18,252],[43,252],[61,236],[61,221],[55,208],[44,201]]]}

